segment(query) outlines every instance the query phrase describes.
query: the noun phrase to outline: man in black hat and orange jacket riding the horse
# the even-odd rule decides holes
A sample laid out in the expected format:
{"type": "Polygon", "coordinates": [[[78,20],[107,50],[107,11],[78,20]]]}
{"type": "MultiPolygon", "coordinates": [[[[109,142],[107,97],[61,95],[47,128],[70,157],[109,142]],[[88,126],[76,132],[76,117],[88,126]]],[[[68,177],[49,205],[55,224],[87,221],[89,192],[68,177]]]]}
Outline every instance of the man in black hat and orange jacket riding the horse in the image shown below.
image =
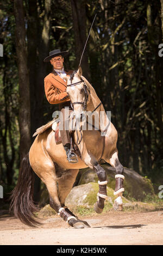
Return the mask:
{"type": "Polygon", "coordinates": [[[70,130],[67,129],[69,120],[66,119],[65,109],[69,111],[69,115],[73,111],[71,102],[66,92],[66,81],[64,77],[70,76],[72,70],[66,71],[64,69],[64,57],[68,54],[67,51],[61,52],[59,49],[49,52],[49,56],[46,57],[44,62],[51,62],[53,70],[49,73],[44,80],[45,94],[49,103],[59,104],[59,111],[62,113],[63,124],[60,129],[61,141],[66,151],[67,160],[70,163],[77,163],[78,158],[75,153],[70,150],[71,135],[70,130]],[[66,107],[66,108],[65,108],[66,107]]]}

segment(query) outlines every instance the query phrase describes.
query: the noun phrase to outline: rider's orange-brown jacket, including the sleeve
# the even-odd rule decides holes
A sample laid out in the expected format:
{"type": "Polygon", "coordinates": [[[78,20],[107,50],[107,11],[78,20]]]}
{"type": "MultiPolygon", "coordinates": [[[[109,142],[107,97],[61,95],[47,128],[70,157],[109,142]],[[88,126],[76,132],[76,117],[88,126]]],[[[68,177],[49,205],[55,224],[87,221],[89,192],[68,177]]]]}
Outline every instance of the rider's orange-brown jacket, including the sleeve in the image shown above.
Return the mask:
{"type": "MultiPolygon", "coordinates": [[[[72,74],[72,70],[65,71],[67,76],[72,74]]],[[[70,101],[66,93],[66,82],[55,72],[52,71],[44,78],[45,94],[49,103],[58,104],[70,101]],[[66,97],[66,99],[64,99],[66,97]]]]}

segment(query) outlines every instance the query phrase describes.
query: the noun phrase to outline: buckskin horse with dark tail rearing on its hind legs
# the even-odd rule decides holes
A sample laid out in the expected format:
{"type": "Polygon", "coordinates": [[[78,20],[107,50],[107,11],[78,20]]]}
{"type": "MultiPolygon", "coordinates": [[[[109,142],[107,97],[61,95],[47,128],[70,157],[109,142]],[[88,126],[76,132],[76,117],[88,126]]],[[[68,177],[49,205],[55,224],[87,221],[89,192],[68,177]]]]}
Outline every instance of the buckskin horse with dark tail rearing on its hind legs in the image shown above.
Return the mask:
{"type": "Polygon", "coordinates": [[[103,112],[103,118],[99,121],[99,130],[81,130],[82,139],[79,141],[78,131],[73,132],[73,141],[77,144],[81,158],[78,157],[78,163],[68,163],[65,150],[62,143],[56,144],[54,131],[50,121],[48,124],[37,129],[34,135],[37,135],[29,154],[24,157],[20,167],[17,185],[11,196],[11,209],[20,220],[30,226],[40,224],[35,217],[37,210],[33,203],[34,172],[45,183],[49,193],[49,204],[57,211],[68,224],[74,228],[85,228],[90,225],[82,220],[65,206],[65,198],[70,193],[74,181],[76,180],[79,169],[87,166],[95,170],[98,176],[99,192],[98,200],[94,209],[101,213],[104,208],[104,201],[108,199],[106,193],[106,173],[98,161],[103,159],[111,164],[116,170],[115,192],[117,199],[114,202],[114,208],[122,210],[123,188],[123,166],[118,160],[118,151],[116,148],[117,131],[114,125],[109,121],[104,107],[99,100],[95,89],[82,76],[82,69],[67,79],[67,93],[74,108],[76,120],[80,120],[84,109],[90,113],[103,112]],[[73,83],[72,83],[73,82],[73,83]],[[101,136],[104,133],[105,136],[101,136]],[[78,142],[78,143],[77,143],[78,142]],[[34,172],[33,172],[34,171],[34,172]],[[58,184],[58,185],[57,185],[58,184]]]}

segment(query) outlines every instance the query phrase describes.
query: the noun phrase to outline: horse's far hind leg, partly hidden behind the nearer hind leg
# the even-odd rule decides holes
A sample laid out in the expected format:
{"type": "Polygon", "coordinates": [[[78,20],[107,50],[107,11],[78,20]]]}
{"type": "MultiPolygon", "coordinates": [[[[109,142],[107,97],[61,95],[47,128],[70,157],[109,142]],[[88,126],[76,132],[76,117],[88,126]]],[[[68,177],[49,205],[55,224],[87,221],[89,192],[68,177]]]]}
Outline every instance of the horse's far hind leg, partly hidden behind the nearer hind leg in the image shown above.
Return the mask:
{"type": "Polygon", "coordinates": [[[61,172],[57,172],[58,177],[57,177],[57,182],[58,182],[58,197],[60,200],[60,204],[61,204],[61,208],[64,208],[65,211],[70,214],[71,216],[76,217],[76,219],[72,218],[72,220],[70,220],[70,225],[73,225],[74,228],[84,228],[84,227],[90,227],[90,225],[82,220],[79,220],[77,216],[75,216],[69,209],[67,206],[65,206],[65,199],[67,197],[67,195],[70,193],[73,184],[76,180],[77,174],[79,172],[79,169],[68,169],[65,172],[61,173],[61,172]]]}

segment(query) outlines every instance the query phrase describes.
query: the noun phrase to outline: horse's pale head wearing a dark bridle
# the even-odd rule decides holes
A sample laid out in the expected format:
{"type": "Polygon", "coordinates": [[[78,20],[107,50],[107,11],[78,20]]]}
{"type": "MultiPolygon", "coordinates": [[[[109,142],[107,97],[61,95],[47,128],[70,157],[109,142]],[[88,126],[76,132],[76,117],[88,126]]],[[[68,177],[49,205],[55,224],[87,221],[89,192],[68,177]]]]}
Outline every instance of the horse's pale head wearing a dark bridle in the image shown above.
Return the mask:
{"type": "Polygon", "coordinates": [[[67,94],[70,97],[76,119],[80,119],[83,111],[86,111],[90,100],[90,91],[82,78],[82,68],[74,71],[67,80],[67,94]]]}

